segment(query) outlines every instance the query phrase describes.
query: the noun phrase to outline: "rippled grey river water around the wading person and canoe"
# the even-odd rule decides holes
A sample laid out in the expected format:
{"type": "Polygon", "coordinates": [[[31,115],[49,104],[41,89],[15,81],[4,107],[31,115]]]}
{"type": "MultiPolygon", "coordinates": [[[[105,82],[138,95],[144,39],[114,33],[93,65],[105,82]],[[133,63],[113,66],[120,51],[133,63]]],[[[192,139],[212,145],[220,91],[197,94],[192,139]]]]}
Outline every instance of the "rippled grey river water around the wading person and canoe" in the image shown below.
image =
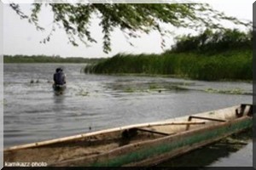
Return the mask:
{"type": "MultiPolygon", "coordinates": [[[[84,65],[4,64],[4,147],[253,103],[251,82],[88,75],[84,65]],[[62,95],[52,90],[58,66],[67,75],[62,95]]],[[[226,149],[229,154],[218,153],[203,166],[252,167],[252,148],[252,138],[247,138],[239,150],[226,149]]]]}

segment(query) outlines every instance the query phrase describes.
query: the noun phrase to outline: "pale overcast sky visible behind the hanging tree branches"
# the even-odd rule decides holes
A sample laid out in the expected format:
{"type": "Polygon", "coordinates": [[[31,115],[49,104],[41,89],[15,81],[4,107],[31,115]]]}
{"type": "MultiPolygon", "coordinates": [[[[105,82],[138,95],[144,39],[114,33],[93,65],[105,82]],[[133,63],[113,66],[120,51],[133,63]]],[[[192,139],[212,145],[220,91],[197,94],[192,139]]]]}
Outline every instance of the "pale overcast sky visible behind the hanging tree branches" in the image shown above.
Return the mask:
{"type": "MultiPolygon", "coordinates": [[[[253,0],[243,1],[244,3],[212,3],[206,1],[213,8],[223,11],[225,14],[235,16],[241,20],[253,20],[253,0]]],[[[218,1],[220,2],[220,1],[218,1]]],[[[228,1],[223,1],[228,2],[228,1]]],[[[29,11],[29,4],[22,4],[22,9],[29,11]]],[[[143,35],[140,39],[132,39],[134,47],[131,47],[126,41],[124,35],[116,30],[112,34],[112,52],[104,54],[102,52],[102,35],[101,28],[95,24],[92,36],[98,43],[91,44],[91,47],[85,47],[83,43],[79,47],[73,47],[68,43],[67,36],[63,30],[55,31],[50,42],[41,44],[40,41],[49,34],[52,26],[52,14],[43,10],[44,15],[39,18],[40,25],[46,30],[44,32],[37,31],[35,26],[29,24],[26,20],[20,20],[15,11],[9,8],[8,4],[3,4],[3,54],[45,54],[45,55],[61,55],[61,57],[84,57],[84,58],[100,58],[111,57],[118,53],[129,54],[160,54],[163,49],[160,48],[160,35],[152,32],[149,35],[143,35]]],[[[167,42],[166,48],[172,44],[172,39],[167,42]]]]}

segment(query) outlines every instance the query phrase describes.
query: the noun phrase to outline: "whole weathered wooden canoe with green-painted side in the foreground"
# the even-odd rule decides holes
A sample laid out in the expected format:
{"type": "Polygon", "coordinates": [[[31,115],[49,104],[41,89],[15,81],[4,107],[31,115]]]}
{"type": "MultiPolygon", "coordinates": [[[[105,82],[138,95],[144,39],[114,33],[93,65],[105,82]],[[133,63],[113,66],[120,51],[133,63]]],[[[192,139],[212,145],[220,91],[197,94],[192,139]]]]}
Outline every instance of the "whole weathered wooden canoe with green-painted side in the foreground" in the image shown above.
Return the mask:
{"type": "Polygon", "coordinates": [[[152,166],[253,127],[253,105],[115,127],[3,150],[4,165],[44,162],[58,167],[152,166]]]}

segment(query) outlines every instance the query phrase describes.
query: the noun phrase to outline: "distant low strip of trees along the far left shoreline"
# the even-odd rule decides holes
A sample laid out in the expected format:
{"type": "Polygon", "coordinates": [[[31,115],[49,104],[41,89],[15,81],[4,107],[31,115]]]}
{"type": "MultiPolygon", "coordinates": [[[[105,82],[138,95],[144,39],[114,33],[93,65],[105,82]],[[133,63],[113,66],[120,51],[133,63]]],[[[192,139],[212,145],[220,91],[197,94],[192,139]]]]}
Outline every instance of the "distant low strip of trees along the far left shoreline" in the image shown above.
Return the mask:
{"type": "Polygon", "coordinates": [[[3,63],[96,63],[102,58],[82,58],[82,57],[68,57],[61,58],[60,56],[46,56],[46,55],[3,55],[3,63]]]}

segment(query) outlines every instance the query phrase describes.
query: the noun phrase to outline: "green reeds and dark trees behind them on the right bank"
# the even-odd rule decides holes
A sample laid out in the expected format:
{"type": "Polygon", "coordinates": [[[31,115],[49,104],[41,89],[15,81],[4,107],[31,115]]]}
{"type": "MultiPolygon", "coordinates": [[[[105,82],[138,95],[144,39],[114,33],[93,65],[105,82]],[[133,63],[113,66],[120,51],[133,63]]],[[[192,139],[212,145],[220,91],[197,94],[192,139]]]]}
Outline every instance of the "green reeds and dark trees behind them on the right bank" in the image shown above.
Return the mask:
{"type": "Polygon", "coordinates": [[[86,73],[148,74],[199,80],[252,80],[253,32],[204,31],[177,37],[163,54],[116,54],[85,67],[86,73]]]}

